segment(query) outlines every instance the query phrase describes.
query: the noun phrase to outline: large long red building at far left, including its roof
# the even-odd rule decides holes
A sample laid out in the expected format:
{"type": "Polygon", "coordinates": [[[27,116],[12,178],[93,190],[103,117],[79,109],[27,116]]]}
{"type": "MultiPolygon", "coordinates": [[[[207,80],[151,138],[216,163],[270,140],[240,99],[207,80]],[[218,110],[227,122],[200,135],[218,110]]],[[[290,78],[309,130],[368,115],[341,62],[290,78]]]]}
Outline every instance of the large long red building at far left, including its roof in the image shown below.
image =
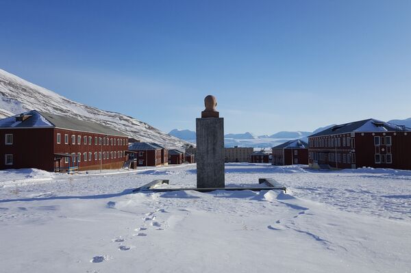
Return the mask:
{"type": "Polygon", "coordinates": [[[104,125],[36,110],[0,120],[0,169],[121,168],[127,135],[104,125]]]}

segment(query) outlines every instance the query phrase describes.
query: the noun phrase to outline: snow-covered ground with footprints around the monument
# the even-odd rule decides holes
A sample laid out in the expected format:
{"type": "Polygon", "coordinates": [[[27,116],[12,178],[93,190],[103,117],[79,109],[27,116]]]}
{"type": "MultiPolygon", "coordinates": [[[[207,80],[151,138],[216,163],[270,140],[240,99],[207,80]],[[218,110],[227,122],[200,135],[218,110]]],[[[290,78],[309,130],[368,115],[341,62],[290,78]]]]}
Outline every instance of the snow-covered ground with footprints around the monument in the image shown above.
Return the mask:
{"type": "Polygon", "coordinates": [[[411,172],[227,164],[274,191],[195,186],[195,165],[116,174],[0,172],[1,272],[410,272],[411,172]]]}

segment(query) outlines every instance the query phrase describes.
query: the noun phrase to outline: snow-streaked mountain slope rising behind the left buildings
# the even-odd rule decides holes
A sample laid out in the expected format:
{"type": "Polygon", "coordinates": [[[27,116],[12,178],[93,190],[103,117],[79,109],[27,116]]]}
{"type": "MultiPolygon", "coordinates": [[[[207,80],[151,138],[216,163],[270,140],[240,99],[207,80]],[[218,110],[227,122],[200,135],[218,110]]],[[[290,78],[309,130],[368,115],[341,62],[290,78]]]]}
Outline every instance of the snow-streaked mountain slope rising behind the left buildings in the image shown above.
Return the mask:
{"type": "Polygon", "coordinates": [[[0,69],[0,118],[32,109],[99,122],[131,138],[156,142],[167,148],[177,148],[187,143],[130,116],[76,103],[0,69]]]}

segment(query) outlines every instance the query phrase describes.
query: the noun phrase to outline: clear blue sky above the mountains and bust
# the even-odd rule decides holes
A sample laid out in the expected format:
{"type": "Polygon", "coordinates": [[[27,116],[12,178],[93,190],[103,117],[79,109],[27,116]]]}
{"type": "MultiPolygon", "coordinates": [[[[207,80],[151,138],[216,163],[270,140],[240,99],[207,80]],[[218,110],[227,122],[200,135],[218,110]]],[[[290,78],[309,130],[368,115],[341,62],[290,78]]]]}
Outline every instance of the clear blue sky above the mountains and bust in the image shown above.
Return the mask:
{"type": "Polygon", "coordinates": [[[0,3],[0,68],[163,131],[411,117],[408,0],[0,3]]]}

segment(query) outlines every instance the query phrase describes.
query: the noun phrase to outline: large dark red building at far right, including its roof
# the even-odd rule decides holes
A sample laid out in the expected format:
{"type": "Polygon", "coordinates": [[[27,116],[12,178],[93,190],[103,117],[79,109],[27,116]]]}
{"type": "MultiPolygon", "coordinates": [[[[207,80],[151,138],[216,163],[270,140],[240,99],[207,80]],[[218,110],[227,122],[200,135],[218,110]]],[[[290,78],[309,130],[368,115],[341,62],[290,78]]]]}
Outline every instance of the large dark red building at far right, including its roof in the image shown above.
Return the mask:
{"type": "Polygon", "coordinates": [[[411,170],[411,128],[367,119],[336,125],[308,137],[312,168],[411,170]]]}

